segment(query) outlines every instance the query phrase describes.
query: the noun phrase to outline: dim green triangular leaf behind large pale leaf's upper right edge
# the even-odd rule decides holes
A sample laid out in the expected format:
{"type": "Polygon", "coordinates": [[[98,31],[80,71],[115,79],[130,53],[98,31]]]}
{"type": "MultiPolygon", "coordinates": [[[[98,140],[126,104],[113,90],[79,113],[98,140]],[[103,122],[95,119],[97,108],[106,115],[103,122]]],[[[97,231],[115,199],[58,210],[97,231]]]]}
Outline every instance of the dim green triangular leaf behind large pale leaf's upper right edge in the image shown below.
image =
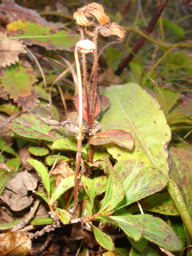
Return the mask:
{"type": "Polygon", "coordinates": [[[164,114],[167,115],[169,110],[175,105],[179,98],[180,91],[173,91],[162,86],[154,86],[155,99],[159,102],[164,114]]]}

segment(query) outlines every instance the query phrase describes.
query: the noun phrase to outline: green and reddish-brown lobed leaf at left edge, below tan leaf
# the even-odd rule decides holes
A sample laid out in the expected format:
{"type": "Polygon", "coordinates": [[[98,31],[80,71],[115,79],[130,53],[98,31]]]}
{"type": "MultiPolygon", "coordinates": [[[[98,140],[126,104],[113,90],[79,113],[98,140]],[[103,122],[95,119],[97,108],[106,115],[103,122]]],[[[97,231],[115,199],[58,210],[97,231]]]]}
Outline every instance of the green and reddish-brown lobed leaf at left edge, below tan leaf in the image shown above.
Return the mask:
{"type": "Polygon", "coordinates": [[[37,81],[30,64],[26,61],[19,61],[16,65],[11,65],[2,69],[1,76],[4,91],[9,94],[10,99],[17,102],[17,105],[27,106],[38,102],[35,90],[32,89],[32,84],[37,81]]]}

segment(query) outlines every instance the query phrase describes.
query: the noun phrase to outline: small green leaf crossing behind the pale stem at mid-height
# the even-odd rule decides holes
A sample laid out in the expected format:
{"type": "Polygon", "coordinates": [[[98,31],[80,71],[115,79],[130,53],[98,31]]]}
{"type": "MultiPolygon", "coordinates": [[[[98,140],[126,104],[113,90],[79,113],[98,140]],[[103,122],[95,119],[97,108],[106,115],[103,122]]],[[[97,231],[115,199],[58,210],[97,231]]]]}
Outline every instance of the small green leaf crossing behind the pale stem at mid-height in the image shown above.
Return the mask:
{"type": "MultiPolygon", "coordinates": [[[[55,140],[52,144],[52,149],[72,150],[77,152],[77,142],[67,139],[55,140]]],[[[87,156],[87,151],[84,146],[81,147],[81,154],[82,156],[87,156]]]]}

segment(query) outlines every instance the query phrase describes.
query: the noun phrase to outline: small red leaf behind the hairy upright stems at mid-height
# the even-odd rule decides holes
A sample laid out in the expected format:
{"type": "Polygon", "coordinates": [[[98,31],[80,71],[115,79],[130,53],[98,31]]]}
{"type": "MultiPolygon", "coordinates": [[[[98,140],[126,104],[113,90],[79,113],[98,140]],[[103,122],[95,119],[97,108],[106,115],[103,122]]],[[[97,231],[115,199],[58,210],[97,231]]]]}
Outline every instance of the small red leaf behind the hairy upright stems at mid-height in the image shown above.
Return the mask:
{"type": "MultiPolygon", "coordinates": [[[[88,122],[88,116],[87,116],[87,99],[85,95],[85,91],[83,90],[82,93],[82,100],[83,100],[83,118],[88,122]]],[[[79,94],[76,94],[75,96],[75,106],[77,111],[79,112],[79,94]]],[[[94,117],[99,115],[99,112],[101,111],[101,104],[99,102],[99,99],[96,100],[96,107],[95,107],[95,114],[94,117]]]]}

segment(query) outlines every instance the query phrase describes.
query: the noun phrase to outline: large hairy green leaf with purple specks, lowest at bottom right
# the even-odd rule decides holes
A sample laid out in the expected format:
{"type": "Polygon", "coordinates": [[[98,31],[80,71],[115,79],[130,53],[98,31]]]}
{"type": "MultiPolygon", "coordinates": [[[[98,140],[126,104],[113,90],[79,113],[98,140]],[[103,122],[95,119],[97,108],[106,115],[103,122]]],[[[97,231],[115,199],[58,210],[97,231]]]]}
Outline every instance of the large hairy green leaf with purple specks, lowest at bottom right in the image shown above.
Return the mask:
{"type": "MultiPolygon", "coordinates": [[[[160,218],[148,215],[110,216],[113,224],[130,236],[129,229],[138,227],[142,236],[167,250],[180,250],[182,244],[174,231],[165,221],[160,218]]],[[[134,234],[135,236],[135,234],[134,234]]],[[[133,236],[131,236],[133,237],[133,236]]],[[[134,237],[133,237],[134,238],[134,237]]],[[[137,239],[138,240],[138,239],[137,239]]]]}

